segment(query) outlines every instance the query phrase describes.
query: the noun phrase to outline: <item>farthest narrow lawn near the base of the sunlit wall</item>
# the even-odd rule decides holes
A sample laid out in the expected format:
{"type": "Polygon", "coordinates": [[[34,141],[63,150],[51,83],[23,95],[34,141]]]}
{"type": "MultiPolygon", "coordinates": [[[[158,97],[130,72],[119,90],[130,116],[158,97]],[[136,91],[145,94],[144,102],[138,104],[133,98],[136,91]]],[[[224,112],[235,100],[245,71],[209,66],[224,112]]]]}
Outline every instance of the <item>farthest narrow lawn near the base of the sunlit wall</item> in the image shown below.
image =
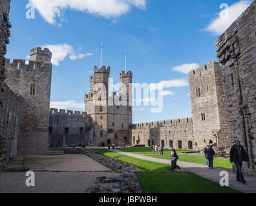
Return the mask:
{"type": "MultiPolygon", "coordinates": [[[[118,147],[116,149],[126,153],[152,154],[151,147],[118,147]]],[[[191,150],[186,150],[186,151],[191,151],[191,150]]],[[[182,152],[184,152],[184,149],[176,149],[176,153],[182,153],[182,152]]],[[[164,153],[171,154],[171,150],[168,148],[164,148],[164,153]]]]}

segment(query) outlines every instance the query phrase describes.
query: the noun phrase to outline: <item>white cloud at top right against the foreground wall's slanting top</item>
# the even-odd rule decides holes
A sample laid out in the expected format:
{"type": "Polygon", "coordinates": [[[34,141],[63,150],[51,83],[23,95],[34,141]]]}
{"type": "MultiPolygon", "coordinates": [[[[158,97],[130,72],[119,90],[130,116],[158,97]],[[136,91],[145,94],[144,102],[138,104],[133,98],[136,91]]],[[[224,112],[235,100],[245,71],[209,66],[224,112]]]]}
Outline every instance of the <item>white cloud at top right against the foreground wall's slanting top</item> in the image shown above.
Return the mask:
{"type": "Polygon", "coordinates": [[[220,35],[246,10],[251,1],[239,1],[225,8],[219,13],[219,16],[211,21],[204,31],[213,35],[220,35]],[[227,13],[228,12],[228,13],[227,13]],[[225,18],[227,14],[227,18],[225,18]]]}

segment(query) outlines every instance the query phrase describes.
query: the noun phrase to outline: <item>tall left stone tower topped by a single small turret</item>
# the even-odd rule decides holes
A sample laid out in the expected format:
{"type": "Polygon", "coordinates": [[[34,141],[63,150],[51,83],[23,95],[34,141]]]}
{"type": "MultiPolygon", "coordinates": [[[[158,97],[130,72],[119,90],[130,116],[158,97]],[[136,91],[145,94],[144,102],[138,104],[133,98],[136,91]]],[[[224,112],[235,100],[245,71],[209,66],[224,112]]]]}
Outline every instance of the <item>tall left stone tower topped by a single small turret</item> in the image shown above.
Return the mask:
{"type": "Polygon", "coordinates": [[[30,61],[6,59],[6,84],[23,98],[18,154],[44,154],[48,149],[52,53],[30,50],[30,61]]]}

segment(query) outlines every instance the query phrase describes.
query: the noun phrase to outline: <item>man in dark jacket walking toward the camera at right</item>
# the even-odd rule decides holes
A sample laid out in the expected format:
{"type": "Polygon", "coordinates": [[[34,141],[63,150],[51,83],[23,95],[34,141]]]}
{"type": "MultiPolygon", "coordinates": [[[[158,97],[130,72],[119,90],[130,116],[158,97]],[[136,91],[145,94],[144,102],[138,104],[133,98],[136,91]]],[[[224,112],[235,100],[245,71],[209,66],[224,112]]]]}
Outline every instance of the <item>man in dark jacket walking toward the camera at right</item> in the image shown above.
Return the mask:
{"type": "Polygon", "coordinates": [[[244,176],[242,175],[242,161],[248,162],[248,154],[246,154],[246,151],[244,150],[244,147],[240,145],[240,141],[235,141],[235,145],[231,147],[230,153],[229,153],[229,160],[233,164],[235,163],[235,166],[237,167],[237,181],[246,183],[246,180],[244,180],[244,176]]]}

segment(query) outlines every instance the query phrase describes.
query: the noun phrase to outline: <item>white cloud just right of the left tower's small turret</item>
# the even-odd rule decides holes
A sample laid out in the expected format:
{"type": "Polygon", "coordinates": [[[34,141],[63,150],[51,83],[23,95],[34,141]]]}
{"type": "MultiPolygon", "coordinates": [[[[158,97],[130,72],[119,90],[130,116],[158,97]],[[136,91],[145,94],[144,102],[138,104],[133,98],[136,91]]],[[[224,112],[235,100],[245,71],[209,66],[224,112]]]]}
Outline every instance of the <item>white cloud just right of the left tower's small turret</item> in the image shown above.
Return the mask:
{"type": "Polygon", "coordinates": [[[76,55],[74,48],[69,44],[44,44],[41,47],[48,48],[52,52],[52,64],[55,66],[59,66],[59,62],[63,61],[68,55],[72,61],[93,55],[93,53],[80,53],[76,55]]]}

